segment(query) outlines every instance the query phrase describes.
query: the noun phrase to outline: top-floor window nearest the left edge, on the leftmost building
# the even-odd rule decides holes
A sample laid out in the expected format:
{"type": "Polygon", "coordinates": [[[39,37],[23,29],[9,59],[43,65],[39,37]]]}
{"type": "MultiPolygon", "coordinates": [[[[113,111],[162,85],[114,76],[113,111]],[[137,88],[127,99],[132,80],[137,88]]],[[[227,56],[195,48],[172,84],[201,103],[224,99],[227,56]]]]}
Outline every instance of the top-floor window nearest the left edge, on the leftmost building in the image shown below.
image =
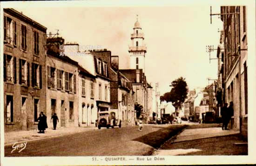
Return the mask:
{"type": "Polygon", "coordinates": [[[13,22],[12,19],[4,16],[4,41],[8,44],[12,43],[11,36],[13,35],[13,22]]]}

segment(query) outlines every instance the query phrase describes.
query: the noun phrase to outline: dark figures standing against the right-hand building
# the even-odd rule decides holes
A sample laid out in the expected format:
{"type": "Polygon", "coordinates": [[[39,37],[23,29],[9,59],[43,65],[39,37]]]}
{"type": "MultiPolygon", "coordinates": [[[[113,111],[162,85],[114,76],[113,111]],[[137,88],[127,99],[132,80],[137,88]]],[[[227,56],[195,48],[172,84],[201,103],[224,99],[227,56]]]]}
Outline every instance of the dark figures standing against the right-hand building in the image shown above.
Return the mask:
{"type": "Polygon", "coordinates": [[[234,115],[234,109],[233,109],[234,103],[230,102],[229,107],[228,103],[224,103],[224,106],[221,108],[221,115],[222,115],[222,130],[229,130],[228,124],[231,119],[231,117],[234,115]]]}

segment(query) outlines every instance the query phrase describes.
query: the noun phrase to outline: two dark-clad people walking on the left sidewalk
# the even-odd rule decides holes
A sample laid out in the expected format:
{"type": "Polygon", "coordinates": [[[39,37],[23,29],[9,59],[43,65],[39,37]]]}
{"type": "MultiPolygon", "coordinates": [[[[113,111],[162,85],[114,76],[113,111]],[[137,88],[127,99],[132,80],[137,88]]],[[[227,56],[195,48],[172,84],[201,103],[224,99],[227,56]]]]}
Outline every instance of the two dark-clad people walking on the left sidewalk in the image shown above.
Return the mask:
{"type": "MultiPolygon", "coordinates": [[[[54,115],[52,115],[51,119],[53,119],[54,130],[56,130],[57,121],[59,122],[59,119],[58,119],[58,116],[56,115],[56,113],[54,113],[54,115]]],[[[40,115],[39,115],[37,121],[38,121],[37,127],[38,127],[38,130],[39,130],[38,133],[44,133],[45,129],[48,128],[47,116],[44,115],[43,112],[40,112],[40,115]]]]}

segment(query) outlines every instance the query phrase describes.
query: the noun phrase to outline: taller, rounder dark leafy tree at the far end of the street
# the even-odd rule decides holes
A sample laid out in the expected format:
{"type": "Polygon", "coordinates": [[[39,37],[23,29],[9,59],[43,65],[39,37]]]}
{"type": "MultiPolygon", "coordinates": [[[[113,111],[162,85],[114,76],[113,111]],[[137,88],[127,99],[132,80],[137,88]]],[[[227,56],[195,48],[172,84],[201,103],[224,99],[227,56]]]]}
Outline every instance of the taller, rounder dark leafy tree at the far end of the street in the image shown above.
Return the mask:
{"type": "Polygon", "coordinates": [[[170,102],[172,102],[175,108],[178,108],[187,98],[188,85],[185,81],[185,78],[179,77],[172,82],[171,86],[173,88],[171,89],[171,92],[170,92],[170,102]]]}

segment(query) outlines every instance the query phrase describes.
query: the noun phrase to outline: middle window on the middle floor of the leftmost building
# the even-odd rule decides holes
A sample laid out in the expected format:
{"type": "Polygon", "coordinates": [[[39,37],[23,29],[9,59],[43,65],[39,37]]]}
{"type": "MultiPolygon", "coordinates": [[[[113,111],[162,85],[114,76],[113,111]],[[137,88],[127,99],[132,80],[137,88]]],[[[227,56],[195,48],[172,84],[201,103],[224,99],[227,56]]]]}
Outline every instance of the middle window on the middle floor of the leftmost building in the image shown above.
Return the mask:
{"type": "Polygon", "coordinates": [[[20,59],[20,84],[29,85],[29,64],[26,60],[20,59]]]}

